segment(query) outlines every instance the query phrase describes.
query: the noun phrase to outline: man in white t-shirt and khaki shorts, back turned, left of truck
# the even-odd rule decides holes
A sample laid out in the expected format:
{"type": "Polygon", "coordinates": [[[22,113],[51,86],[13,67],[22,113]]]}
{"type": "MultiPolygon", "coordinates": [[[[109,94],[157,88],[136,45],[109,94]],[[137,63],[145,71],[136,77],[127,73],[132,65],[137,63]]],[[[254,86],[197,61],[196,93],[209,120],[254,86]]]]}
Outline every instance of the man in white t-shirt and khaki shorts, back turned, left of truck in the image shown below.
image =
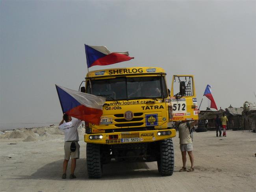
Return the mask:
{"type": "Polygon", "coordinates": [[[78,137],[78,131],[77,128],[80,126],[82,123],[81,120],[76,119],[72,120],[71,116],[68,114],[63,115],[62,121],[59,123],[59,129],[61,131],[64,131],[65,133],[65,144],[64,144],[64,161],[63,161],[63,175],[62,179],[66,179],[67,174],[67,165],[71,156],[71,173],[69,178],[70,179],[75,179],[76,176],[74,175],[74,171],[76,169],[76,159],[79,159],[80,156],[80,145],[78,144],[79,137],[78,137]],[[64,123],[64,120],[66,123],[64,123]],[[71,151],[70,146],[74,142],[76,146],[75,151],[71,151]]]}

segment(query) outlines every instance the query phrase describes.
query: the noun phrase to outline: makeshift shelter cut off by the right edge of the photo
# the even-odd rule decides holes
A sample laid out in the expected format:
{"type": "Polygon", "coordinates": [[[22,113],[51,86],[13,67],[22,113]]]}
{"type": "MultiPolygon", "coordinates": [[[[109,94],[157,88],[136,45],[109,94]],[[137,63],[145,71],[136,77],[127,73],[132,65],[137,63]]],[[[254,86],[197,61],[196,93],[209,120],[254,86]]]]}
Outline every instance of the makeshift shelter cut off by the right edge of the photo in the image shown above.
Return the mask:
{"type": "Polygon", "coordinates": [[[256,130],[256,104],[245,102],[243,104],[243,128],[252,130],[255,133],[256,130]]]}

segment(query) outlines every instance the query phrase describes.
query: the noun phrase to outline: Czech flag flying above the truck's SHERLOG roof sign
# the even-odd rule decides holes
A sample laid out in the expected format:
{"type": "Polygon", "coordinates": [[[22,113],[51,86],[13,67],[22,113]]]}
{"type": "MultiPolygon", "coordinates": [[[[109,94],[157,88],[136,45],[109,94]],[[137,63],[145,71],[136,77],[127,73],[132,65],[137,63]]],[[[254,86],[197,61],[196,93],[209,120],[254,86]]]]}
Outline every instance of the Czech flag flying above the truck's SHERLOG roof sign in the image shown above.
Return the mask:
{"type": "Polygon", "coordinates": [[[129,61],[134,57],[129,57],[128,52],[110,52],[105,46],[85,46],[87,67],[94,65],[111,65],[122,61],[129,61]]]}

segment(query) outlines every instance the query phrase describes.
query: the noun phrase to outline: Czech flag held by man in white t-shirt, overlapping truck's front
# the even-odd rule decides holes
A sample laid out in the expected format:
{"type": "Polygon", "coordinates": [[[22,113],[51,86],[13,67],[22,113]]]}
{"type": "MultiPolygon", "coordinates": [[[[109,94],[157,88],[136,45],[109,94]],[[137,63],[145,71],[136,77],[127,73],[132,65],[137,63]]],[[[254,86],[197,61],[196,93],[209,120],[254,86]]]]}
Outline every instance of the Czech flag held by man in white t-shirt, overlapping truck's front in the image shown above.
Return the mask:
{"type": "Polygon", "coordinates": [[[85,122],[100,124],[106,98],[56,85],[62,112],[85,122]]]}

